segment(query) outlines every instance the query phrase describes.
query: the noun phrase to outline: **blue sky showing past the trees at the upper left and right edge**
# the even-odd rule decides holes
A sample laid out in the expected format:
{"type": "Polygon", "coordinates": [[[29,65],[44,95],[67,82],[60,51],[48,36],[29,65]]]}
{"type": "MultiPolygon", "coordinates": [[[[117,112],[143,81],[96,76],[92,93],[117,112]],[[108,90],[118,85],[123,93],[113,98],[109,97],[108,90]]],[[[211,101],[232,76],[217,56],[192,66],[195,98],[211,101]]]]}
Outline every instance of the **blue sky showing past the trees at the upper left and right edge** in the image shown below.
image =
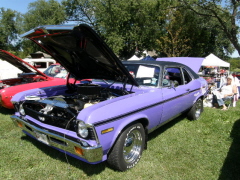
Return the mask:
{"type": "MultiPolygon", "coordinates": [[[[28,4],[36,0],[0,0],[0,7],[16,10],[20,13],[26,13],[28,4]]],[[[61,0],[58,0],[61,2],[61,0]]],[[[237,51],[232,54],[232,57],[239,57],[237,51]]]]}

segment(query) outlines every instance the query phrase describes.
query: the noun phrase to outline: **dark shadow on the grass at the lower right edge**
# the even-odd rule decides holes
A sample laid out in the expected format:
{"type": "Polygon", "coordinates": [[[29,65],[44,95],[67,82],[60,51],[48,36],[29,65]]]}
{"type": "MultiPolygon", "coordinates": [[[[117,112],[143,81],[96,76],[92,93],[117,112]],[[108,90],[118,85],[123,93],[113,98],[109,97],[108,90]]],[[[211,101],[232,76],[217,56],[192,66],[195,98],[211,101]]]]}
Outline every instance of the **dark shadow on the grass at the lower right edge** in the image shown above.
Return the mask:
{"type": "Polygon", "coordinates": [[[240,119],[238,119],[230,134],[232,144],[221,168],[218,180],[240,179],[240,119]]]}

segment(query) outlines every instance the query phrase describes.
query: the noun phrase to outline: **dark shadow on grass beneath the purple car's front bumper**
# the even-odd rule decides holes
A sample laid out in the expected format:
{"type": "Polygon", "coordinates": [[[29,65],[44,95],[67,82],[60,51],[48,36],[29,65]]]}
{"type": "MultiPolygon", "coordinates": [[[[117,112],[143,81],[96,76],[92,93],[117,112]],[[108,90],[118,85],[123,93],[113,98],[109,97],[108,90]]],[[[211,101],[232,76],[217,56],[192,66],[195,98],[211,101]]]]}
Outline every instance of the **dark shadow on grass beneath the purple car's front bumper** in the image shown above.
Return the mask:
{"type": "Polygon", "coordinates": [[[57,160],[61,161],[62,163],[66,163],[66,164],[69,163],[71,166],[74,166],[74,167],[78,168],[79,170],[84,171],[88,176],[100,174],[107,167],[106,162],[102,162],[99,164],[85,163],[85,162],[75,159],[71,156],[65,155],[64,153],[62,153],[52,147],[49,147],[41,142],[38,142],[37,140],[35,140],[27,135],[23,135],[21,137],[21,139],[24,141],[31,142],[36,148],[41,150],[47,156],[49,156],[53,159],[57,159],[57,160]]]}

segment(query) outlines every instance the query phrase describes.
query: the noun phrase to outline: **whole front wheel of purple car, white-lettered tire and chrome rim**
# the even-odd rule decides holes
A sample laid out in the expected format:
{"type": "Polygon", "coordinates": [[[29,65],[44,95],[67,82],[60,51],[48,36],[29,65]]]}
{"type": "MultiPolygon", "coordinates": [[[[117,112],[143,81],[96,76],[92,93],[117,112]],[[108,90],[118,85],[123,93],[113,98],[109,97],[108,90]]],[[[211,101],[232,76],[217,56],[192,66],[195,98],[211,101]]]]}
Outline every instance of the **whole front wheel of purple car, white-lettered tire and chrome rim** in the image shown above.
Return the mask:
{"type": "Polygon", "coordinates": [[[119,171],[134,167],[141,158],[145,132],[141,123],[128,126],[117,139],[108,156],[108,164],[119,171]]]}

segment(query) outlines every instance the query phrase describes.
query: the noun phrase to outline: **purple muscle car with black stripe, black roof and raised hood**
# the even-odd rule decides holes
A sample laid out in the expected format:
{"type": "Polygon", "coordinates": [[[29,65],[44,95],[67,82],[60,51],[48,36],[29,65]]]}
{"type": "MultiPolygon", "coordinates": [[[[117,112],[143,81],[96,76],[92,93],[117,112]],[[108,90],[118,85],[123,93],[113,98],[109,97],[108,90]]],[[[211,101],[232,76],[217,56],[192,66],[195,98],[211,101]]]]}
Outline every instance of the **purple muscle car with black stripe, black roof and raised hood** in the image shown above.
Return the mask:
{"type": "Polygon", "coordinates": [[[79,160],[107,160],[125,171],[140,160],[150,132],[203,111],[207,83],[186,65],[121,62],[87,25],[42,26],[23,36],[76,80],[91,81],[18,93],[11,118],[25,134],[79,160]]]}

